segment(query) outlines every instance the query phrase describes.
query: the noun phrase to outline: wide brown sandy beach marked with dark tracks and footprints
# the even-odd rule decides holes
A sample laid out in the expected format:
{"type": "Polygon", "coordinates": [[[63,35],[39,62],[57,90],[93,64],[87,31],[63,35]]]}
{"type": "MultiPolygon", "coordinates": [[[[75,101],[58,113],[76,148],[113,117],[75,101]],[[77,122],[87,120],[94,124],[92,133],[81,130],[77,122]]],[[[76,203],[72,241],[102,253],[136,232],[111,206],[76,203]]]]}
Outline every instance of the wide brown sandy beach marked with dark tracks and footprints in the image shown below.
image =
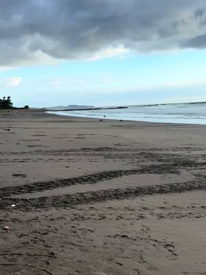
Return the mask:
{"type": "Polygon", "coordinates": [[[1,111],[0,274],[205,275],[205,137],[1,111]]]}

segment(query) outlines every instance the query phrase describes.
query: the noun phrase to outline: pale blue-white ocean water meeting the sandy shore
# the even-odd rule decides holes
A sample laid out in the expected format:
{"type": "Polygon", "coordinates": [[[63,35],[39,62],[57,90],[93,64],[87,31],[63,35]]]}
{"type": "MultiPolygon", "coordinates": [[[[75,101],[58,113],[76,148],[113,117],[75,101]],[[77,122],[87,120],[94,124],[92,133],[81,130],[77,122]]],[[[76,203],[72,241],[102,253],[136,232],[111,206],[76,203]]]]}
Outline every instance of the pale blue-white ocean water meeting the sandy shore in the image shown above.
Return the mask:
{"type": "Polygon", "coordinates": [[[206,124],[206,102],[128,106],[127,109],[49,111],[57,115],[112,120],[206,124]]]}

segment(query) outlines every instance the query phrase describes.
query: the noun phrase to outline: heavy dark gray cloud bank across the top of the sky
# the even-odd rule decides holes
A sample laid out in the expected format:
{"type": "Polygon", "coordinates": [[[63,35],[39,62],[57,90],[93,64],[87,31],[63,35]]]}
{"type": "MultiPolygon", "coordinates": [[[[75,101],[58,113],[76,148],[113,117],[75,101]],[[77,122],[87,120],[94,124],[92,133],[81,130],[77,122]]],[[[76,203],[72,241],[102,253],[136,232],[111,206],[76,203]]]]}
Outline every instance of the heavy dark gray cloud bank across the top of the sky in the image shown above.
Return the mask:
{"type": "Polygon", "coordinates": [[[206,47],[205,0],[0,0],[0,65],[206,47]]]}

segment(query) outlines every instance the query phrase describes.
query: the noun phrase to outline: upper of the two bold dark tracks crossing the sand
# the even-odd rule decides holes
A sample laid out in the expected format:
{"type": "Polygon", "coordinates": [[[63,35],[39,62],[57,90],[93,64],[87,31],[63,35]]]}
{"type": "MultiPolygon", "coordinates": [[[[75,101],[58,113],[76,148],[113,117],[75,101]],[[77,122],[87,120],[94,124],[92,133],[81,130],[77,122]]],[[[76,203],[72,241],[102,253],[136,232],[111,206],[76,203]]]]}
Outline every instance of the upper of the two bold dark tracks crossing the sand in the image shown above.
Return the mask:
{"type": "Polygon", "coordinates": [[[52,190],[55,188],[68,187],[78,184],[97,184],[100,181],[115,179],[117,177],[127,175],[139,174],[168,174],[179,173],[181,168],[203,168],[206,163],[192,162],[192,161],[179,161],[172,164],[152,164],[150,166],[143,166],[139,169],[130,170],[108,170],[100,173],[90,175],[82,175],[80,177],[71,177],[68,179],[55,179],[50,181],[38,181],[33,184],[24,184],[21,186],[8,186],[0,188],[0,198],[10,197],[11,195],[20,195],[32,192],[42,192],[45,190],[52,190]]]}

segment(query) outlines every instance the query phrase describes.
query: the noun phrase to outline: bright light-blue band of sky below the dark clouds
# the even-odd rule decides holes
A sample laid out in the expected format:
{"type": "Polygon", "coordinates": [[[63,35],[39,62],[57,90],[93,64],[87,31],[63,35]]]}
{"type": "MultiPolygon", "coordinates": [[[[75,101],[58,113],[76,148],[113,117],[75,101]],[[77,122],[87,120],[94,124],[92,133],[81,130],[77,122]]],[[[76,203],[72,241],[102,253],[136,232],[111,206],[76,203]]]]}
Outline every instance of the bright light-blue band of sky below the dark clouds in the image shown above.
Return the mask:
{"type": "Polygon", "coordinates": [[[205,101],[205,61],[206,50],[184,50],[9,68],[0,72],[1,94],[33,107],[205,101]]]}

